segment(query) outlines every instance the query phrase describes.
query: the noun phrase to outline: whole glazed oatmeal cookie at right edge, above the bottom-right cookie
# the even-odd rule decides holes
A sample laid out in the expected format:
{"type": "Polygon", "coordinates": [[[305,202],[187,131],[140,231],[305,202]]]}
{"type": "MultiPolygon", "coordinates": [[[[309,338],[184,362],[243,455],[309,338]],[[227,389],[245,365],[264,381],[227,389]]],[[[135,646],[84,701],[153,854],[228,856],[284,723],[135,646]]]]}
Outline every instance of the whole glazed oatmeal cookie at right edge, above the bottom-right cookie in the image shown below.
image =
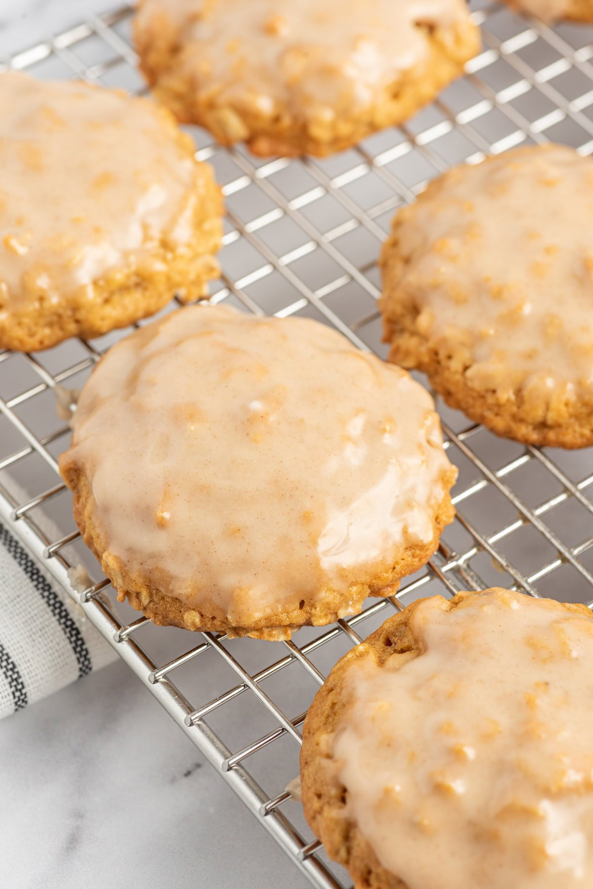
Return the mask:
{"type": "Polygon", "coordinates": [[[383,247],[390,358],[531,445],[593,445],[593,159],[518,148],[432,182],[383,247]]]}

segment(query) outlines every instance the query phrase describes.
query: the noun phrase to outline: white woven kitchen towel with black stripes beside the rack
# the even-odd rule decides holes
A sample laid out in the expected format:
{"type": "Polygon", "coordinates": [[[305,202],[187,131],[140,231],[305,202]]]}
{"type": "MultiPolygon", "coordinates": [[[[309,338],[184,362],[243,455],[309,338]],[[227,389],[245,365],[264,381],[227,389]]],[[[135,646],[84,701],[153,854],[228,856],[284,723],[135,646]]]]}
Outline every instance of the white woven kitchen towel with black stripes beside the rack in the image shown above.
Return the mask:
{"type": "Polygon", "coordinates": [[[0,524],[0,718],[115,659],[82,608],[0,524]]]}

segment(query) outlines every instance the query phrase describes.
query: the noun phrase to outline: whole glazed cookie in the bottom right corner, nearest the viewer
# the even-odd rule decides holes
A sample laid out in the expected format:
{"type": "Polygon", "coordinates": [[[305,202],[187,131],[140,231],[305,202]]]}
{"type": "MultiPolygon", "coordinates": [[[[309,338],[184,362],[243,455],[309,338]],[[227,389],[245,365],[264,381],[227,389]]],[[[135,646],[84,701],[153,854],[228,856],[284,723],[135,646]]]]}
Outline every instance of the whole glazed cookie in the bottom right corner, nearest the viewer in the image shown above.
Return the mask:
{"type": "Polygon", "coordinates": [[[357,889],[593,885],[591,700],[585,605],[421,599],[317,693],[307,820],[357,889]]]}

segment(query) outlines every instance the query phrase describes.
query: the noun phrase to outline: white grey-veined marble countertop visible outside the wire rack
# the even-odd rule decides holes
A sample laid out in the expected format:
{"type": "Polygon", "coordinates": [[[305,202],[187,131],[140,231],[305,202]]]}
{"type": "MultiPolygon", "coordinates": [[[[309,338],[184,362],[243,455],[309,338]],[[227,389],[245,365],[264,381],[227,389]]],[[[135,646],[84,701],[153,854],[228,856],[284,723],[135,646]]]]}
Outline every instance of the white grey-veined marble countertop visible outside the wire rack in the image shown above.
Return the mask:
{"type": "MultiPolygon", "coordinates": [[[[116,4],[0,0],[0,61],[116,4]]],[[[308,881],[123,662],[0,722],[2,889],[308,881]]]]}

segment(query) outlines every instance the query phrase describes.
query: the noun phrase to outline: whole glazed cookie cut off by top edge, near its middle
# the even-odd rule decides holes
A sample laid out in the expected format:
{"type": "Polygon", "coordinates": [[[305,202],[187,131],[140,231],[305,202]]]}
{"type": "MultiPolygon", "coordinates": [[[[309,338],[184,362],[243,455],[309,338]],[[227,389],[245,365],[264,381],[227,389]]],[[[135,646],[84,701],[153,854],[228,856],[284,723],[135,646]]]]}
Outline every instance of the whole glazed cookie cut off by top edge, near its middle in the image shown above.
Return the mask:
{"type": "Polygon", "coordinates": [[[140,0],[134,34],[180,120],[264,156],[399,124],[479,49],[464,0],[140,0]]]}

